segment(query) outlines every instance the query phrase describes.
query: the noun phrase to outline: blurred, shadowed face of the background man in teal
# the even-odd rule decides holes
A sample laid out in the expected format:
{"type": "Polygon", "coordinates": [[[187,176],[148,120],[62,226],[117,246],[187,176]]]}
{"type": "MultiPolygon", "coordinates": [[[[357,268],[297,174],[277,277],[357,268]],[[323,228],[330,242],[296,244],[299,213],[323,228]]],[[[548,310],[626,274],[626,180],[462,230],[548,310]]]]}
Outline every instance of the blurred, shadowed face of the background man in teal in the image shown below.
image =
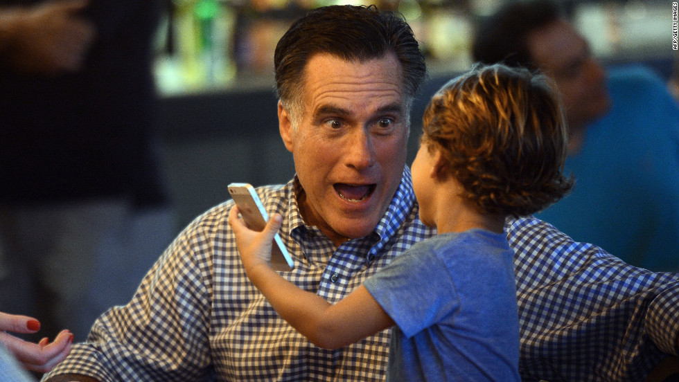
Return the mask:
{"type": "Polygon", "coordinates": [[[561,92],[571,127],[581,128],[610,107],[606,73],[585,39],[566,21],[556,21],[528,37],[533,62],[551,76],[561,92]]]}

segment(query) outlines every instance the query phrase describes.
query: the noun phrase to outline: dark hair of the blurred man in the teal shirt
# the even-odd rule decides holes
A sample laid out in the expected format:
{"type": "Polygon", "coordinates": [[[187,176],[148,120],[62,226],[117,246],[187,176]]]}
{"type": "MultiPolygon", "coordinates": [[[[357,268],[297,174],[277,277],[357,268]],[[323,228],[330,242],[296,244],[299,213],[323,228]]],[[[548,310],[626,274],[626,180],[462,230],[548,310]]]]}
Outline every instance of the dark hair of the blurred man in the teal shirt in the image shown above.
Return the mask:
{"type": "Polygon", "coordinates": [[[513,1],[477,24],[472,56],[484,64],[504,63],[538,69],[533,64],[528,35],[552,24],[562,15],[552,1],[513,1]]]}

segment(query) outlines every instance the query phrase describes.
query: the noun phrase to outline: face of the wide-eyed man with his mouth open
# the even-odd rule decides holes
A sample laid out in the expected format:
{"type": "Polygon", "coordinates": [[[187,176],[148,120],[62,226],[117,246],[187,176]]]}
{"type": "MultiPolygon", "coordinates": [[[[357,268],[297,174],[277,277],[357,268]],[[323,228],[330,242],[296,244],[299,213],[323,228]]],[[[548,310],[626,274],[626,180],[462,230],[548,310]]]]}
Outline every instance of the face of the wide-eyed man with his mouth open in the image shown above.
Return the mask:
{"type": "Polygon", "coordinates": [[[398,188],[409,134],[403,75],[393,55],[359,63],[318,54],[303,78],[295,128],[279,103],[281,136],[306,224],[339,245],[371,233],[398,188]]]}

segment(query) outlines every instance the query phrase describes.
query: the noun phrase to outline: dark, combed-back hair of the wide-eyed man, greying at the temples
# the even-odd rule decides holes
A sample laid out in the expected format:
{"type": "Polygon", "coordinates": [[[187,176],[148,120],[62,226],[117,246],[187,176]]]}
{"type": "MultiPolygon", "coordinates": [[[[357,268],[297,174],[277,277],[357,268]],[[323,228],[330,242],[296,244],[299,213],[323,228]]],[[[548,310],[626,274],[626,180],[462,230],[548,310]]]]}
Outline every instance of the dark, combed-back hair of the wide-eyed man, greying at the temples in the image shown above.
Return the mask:
{"type": "MultiPolygon", "coordinates": [[[[357,62],[394,53],[402,66],[409,98],[415,96],[426,75],[417,40],[402,17],[375,6],[316,8],[295,21],[276,46],[276,93],[284,104],[299,102],[303,69],[317,53],[357,62]]],[[[394,68],[394,73],[397,71],[394,68]]]]}

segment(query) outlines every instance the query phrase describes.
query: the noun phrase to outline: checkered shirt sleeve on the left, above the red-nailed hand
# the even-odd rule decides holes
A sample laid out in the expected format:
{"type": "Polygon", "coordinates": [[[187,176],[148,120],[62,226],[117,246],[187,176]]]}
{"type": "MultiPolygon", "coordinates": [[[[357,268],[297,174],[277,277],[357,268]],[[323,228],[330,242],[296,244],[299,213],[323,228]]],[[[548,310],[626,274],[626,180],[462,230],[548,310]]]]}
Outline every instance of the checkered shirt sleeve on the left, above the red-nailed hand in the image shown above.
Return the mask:
{"type": "Polygon", "coordinates": [[[209,224],[189,226],[124,307],[98,318],[87,342],[48,374],[99,381],[202,381],[211,372],[209,224]]]}

